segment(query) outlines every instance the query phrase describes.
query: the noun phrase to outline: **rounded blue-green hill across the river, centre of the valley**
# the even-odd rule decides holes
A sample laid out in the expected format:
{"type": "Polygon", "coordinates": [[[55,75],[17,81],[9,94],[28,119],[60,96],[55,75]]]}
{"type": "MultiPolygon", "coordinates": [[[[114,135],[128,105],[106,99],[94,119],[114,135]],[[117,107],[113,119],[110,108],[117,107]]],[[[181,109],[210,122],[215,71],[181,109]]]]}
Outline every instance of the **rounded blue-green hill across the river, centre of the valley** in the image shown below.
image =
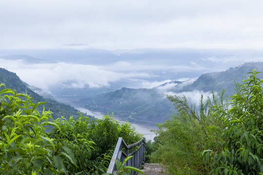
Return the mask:
{"type": "Polygon", "coordinates": [[[162,122],[172,114],[173,105],[156,89],[121,88],[80,100],[86,108],[103,113],[114,113],[129,122],[162,122]]]}

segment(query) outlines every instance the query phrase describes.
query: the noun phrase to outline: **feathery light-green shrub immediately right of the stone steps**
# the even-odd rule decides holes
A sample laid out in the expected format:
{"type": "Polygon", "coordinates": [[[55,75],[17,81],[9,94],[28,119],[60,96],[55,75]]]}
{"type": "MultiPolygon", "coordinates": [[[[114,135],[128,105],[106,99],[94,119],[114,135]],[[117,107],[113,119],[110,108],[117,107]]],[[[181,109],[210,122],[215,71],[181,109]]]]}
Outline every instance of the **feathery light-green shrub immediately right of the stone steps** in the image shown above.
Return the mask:
{"type": "MultiPolygon", "coordinates": [[[[213,93],[212,99],[207,97],[200,101],[200,115],[194,107],[189,106],[185,96],[167,95],[175,106],[177,113],[169,120],[158,124],[155,133],[158,135],[158,149],[151,155],[152,162],[165,164],[173,175],[202,175],[206,167],[200,159],[207,141],[207,125],[218,123],[217,117],[211,117],[212,106],[224,103],[224,91],[217,98],[213,93]]],[[[156,144],[156,143],[155,143],[156,144]]]]}

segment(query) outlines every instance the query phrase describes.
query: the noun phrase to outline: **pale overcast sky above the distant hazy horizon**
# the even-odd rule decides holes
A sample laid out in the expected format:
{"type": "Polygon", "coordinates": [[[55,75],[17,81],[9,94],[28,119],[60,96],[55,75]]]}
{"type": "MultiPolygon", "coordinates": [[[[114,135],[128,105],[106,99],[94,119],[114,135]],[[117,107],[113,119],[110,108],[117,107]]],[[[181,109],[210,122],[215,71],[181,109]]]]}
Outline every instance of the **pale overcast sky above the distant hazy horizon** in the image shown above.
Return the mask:
{"type": "Polygon", "coordinates": [[[262,9],[263,0],[0,0],[0,49],[263,50],[262,9]]]}

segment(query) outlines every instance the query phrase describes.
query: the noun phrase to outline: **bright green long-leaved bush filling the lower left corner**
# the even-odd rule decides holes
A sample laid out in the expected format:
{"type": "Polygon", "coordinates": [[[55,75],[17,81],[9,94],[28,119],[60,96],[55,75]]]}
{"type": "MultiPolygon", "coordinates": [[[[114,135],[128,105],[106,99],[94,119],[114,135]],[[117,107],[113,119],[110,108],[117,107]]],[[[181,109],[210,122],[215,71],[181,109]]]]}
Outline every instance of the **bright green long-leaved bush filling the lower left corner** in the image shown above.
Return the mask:
{"type": "Polygon", "coordinates": [[[59,127],[48,122],[50,111],[36,110],[43,103],[31,99],[12,89],[0,91],[0,174],[68,174],[63,162],[76,166],[75,157],[65,143],[47,137],[45,125],[59,127]]]}

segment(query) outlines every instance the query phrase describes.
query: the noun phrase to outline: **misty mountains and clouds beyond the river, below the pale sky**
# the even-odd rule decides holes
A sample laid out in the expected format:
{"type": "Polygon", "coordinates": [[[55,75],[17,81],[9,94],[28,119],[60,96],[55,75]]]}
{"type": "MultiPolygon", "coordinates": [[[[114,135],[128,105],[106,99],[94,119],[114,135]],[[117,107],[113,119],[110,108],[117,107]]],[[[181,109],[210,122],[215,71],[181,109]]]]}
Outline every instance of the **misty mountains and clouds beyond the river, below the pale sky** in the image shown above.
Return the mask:
{"type": "Polygon", "coordinates": [[[152,126],[164,122],[174,112],[166,94],[185,95],[189,103],[198,106],[201,94],[211,97],[212,89],[219,94],[225,88],[231,95],[235,80],[242,81],[252,69],[263,70],[262,62],[257,62],[262,60],[263,53],[252,51],[13,52],[21,54],[0,56],[1,66],[15,72],[38,94],[75,107],[114,113],[123,121],[152,126]]]}

